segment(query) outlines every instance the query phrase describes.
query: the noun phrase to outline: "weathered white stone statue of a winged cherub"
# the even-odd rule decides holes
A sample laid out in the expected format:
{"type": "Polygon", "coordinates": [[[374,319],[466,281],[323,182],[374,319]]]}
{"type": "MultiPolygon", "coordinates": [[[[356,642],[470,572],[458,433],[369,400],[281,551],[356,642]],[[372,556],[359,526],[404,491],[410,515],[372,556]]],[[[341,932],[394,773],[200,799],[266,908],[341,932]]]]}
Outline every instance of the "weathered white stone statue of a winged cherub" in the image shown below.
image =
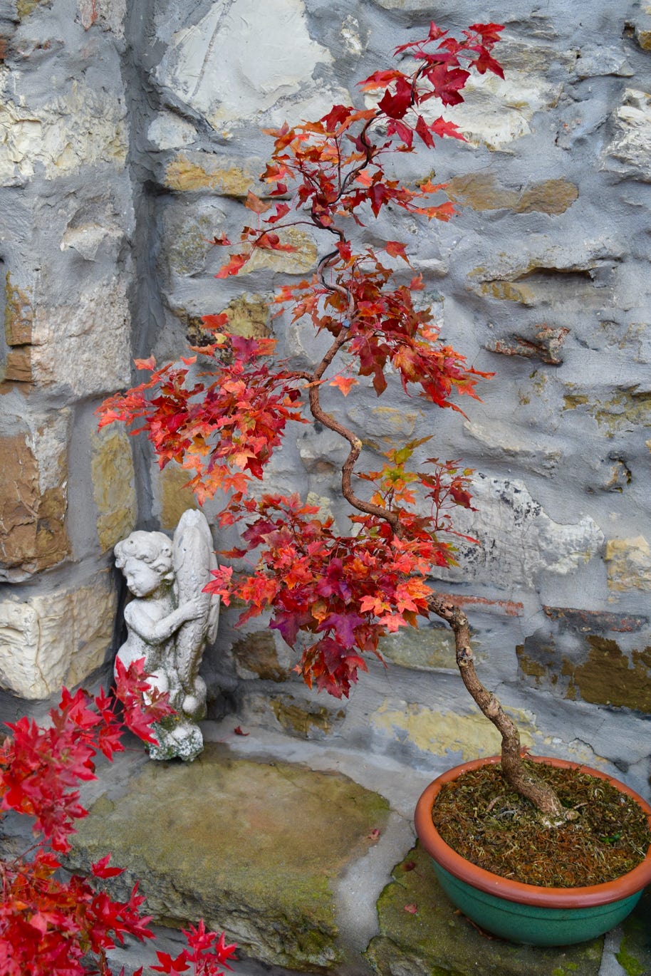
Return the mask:
{"type": "Polygon", "coordinates": [[[152,759],[195,759],[203,749],[198,722],[206,716],[206,684],[199,667],[217,636],[219,596],[202,590],[217,569],[213,540],[201,511],[183,512],[174,539],[132,532],[115,547],[115,565],[134,598],[124,609],[127,639],[117,652],[125,667],[144,658],[149,684],[169,692],[176,715],[153,727],[152,759]]]}

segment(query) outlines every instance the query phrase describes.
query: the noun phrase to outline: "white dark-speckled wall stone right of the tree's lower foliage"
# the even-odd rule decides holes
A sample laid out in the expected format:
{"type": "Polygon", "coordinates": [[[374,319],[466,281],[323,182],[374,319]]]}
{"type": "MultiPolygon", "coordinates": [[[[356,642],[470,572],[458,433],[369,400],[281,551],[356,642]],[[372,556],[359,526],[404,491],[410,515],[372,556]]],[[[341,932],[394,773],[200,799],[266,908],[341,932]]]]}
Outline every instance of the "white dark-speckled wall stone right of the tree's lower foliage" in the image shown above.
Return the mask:
{"type": "Polygon", "coordinates": [[[445,571],[440,579],[452,576],[530,589],[539,573],[567,576],[603,544],[603,533],[589,515],[573,525],[554,522],[523,481],[475,474],[470,493],[477,510],[456,508],[454,525],[479,545],[450,537],[460,549],[460,569],[445,571]]]}

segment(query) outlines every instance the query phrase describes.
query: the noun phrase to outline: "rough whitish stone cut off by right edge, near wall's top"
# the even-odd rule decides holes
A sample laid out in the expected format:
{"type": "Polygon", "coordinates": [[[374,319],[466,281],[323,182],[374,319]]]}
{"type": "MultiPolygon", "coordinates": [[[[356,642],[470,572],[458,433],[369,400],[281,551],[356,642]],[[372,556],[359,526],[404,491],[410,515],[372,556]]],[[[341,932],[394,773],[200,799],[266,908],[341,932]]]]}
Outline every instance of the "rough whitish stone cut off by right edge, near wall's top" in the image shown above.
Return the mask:
{"type": "Polygon", "coordinates": [[[603,169],[651,181],[651,95],[628,88],[612,117],[615,135],[604,151],[603,169]]]}

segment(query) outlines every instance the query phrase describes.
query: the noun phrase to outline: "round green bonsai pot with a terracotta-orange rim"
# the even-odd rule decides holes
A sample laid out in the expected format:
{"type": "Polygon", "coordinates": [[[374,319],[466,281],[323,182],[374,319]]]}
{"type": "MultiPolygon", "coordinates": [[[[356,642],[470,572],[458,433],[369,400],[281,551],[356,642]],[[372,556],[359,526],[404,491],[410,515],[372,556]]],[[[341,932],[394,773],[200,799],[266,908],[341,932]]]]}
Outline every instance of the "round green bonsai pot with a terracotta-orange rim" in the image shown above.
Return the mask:
{"type": "MultiPolygon", "coordinates": [[[[607,780],[639,803],[651,825],[651,806],[618,780],[576,762],[531,758],[552,766],[580,769],[607,780]]],[[[431,821],[431,808],[441,787],[468,770],[495,762],[500,762],[499,755],[455,766],[429,784],[416,807],[416,833],[433,859],[435,874],[451,901],[488,932],[531,946],[584,942],[619,924],[651,881],[651,847],[640,865],[614,881],[583,888],[543,888],[477,868],[441,838],[431,821]]]]}

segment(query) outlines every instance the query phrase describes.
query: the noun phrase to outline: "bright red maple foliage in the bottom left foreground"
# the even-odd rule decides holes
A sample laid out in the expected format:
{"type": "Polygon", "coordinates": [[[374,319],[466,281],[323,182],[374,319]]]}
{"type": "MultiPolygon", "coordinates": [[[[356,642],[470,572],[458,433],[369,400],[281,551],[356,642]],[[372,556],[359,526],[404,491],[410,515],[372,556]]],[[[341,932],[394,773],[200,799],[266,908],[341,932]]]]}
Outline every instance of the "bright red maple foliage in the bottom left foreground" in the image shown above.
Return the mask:
{"type": "MultiPolygon", "coordinates": [[[[142,915],[138,882],[128,899],[119,901],[86,877],[61,874],[60,855],[70,849],[74,822],[87,813],[76,788],[96,778],[97,754],[110,760],[122,752],[126,728],[155,741],[151,726],[173,712],[167,696],[150,689],[143,660],[128,669],[119,665],[113,694],[101,691],[92,698],[81,689],[71,694],[63,688],[47,727],[22,717],[8,726],[11,736],[0,747],[0,809],[31,817],[36,838],[29,850],[0,861],[3,976],[111,976],[108,950],[126,936],[153,937],[150,918],[142,915]]],[[[91,866],[98,881],[122,871],[110,866],[109,854],[91,866]]],[[[218,963],[225,963],[234,947],[225,945],[223,935],[218,940],[206,933],[203,922],[186,935],[182,956],[196,960],[195,973],[223,976],[218,963]]]]}

